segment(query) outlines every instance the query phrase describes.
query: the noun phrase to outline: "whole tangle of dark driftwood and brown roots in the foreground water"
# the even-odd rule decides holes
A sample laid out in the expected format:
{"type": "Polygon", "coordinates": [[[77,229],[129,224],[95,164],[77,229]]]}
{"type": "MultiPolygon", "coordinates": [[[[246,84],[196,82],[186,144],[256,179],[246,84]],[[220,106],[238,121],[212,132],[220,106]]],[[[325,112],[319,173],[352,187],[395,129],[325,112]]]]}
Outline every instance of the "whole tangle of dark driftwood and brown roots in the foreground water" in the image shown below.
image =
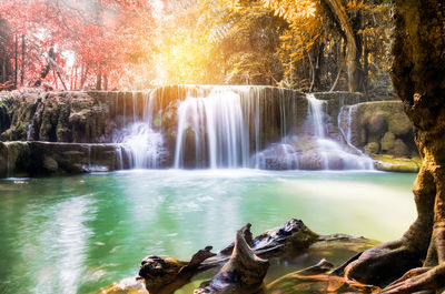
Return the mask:
{"type": "MultiPolygon", "coordinates": [[[[354,284],[350,281],[327,274],[333,267],[327,261],[286,275],[269,285],[264,285],[263,281],[269,266],[267,258],[280,257],[287,260],[304,253],[309,246],[329,247],[338,243],[350,246],[355,240],[362,242],[364,239],[340,234],[318,235],[301,221],[295,219],[280,227],[266,231],[255,239],[250,232],[250,224],[247,224],[240,229],[236,234],[235,242],[222,249],[218,254],[211,253],[211,247],[208,246],[196,253],[189,262],[169,256],[149,255],[142,260],[137,278],[144,281],[150,294],[172,294],[176,290],[188,284],[198,273],[211,267],[221,267],[214,278],[204,282],[199,288],[195,290],[195,294],[286,293],[277,288],[285,288],[284,285],[289,285],[289,277],[294,282],[299,281],[298,283],[303,287],[308,283],[315,283],[315,287],[320,291],[326,290],[326,281],[335,281],[337,285],[344,284],[338,287],[342,291],[336,293],[352,292],[360,287],[375,290],[372,286],[354,284]],[[300,276],[303,277],[297,278],[300,276]]],[[[363,245],[363,243],[360,244],[363,245]]],[[[367,247],[369,247],[368,243],[366,243],[367,247]]],[[[357,250],[363,251],[360,245],[355,247],[355,251],[357,250]]],[[[337,268],[337,272],[343,274],[343,268],[337,268]]],[[[337,272],[334,272],[334,274],[337,272]]]]}

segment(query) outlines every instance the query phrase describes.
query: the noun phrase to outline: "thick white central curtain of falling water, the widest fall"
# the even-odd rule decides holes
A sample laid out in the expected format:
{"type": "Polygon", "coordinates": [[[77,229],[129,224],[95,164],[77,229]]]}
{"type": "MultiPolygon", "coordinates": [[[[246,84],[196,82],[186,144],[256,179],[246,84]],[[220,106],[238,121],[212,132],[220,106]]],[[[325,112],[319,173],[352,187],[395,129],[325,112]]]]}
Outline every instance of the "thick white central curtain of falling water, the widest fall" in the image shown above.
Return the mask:
{"type": "Polygon", "coordinates": [[[210,169],[256,165],[256,162],[250,162],[250,149],[260,148],[260,93],[250,93],[249,88],[236,90],[220,87],[207,94],[202,91],[187,94],[177,113],[176,169],[190,165],[210,169]],[[185,158],[192,149],[192,163],[187,164],[185,158]]]}

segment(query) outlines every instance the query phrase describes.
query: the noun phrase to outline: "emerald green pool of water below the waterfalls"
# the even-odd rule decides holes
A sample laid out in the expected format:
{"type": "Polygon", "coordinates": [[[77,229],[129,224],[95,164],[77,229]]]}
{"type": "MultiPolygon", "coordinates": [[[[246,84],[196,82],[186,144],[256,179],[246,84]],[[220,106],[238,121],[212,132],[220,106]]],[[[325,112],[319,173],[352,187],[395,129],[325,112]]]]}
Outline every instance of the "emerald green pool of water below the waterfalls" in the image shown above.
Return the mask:
{"type": "Polygon", "coordinates": [[[148,254],[189,258],[304,220],[315,232],[379,241],[415,217],[414,174],[130,171],[0,181],[0,293],[90,293],[148,254]]]}

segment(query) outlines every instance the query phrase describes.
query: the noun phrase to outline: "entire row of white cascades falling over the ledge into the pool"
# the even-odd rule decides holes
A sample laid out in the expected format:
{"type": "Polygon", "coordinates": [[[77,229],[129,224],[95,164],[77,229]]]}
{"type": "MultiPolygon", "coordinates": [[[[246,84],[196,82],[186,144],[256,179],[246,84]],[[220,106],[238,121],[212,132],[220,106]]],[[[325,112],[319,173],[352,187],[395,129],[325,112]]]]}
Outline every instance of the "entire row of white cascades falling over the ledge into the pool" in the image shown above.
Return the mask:
{"type": "Polygon", "coordinates": [[[328,103],[314,94],[181,85],[134,92],[119,105],[123,125],[113,142],[121,169],[373,169],[340,126],[327,129],[328,103]]]}

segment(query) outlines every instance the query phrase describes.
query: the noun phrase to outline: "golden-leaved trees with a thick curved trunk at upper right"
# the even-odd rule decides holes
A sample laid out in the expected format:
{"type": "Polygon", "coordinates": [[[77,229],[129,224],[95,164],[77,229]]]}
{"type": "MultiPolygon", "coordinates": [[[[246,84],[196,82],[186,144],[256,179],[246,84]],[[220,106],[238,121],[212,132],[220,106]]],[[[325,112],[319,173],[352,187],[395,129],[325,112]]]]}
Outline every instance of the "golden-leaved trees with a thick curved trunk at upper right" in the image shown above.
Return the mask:
{"type": "Polygon", "coordinates": [[[377,75],[385,79],[382,73],[388,64],[385,54],[389,34],[388,3],[357,0],[263,2],[289,23],[289,30],[281,37],[284,85],[309,91],[334,90],[345,72],[347,89],[363,92],[377,75]]]}

